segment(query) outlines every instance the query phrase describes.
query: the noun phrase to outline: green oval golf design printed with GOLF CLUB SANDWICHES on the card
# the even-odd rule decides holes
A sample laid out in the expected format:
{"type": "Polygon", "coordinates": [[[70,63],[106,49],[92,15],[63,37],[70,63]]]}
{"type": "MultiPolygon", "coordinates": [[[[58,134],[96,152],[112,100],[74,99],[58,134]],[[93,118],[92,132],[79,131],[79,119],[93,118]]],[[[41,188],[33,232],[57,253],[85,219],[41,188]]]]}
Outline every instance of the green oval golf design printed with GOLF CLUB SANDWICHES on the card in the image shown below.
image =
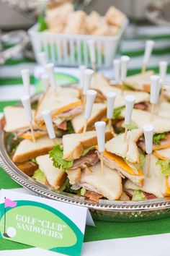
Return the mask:
{"type": "Polygon", "coordinates": [[[67,255],[81,255],[84,234],[59,210],[40,202],[1,204],[1,237],[67,255]]]}

